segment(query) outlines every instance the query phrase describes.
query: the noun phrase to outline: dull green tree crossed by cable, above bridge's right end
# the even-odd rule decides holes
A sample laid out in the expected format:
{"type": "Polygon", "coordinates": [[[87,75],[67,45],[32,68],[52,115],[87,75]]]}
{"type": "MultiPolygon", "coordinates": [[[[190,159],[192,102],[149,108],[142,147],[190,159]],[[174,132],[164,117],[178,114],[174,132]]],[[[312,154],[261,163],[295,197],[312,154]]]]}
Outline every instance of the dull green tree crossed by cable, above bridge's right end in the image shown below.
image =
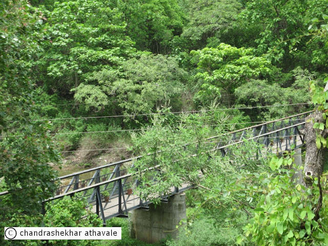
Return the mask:
{"type": "Polygon", "coordinates": [[[305,112],[309,110],[305,103],[311,100],[309,91],[310,80],[315,79],[315,75],[300,67],[293,70],[294,83],[290,87],[284,87],[282,83],[270,83],[268,80],[251,79],[249,82],[239,86],[235,90],[236,103],[241,106],[259,106],[250,110],[255,117],[262,120],[282,118],[295,114],[295,112],[305,112]],[[284,107],[265,107],[272,105],[290,105],[284,107]]]}

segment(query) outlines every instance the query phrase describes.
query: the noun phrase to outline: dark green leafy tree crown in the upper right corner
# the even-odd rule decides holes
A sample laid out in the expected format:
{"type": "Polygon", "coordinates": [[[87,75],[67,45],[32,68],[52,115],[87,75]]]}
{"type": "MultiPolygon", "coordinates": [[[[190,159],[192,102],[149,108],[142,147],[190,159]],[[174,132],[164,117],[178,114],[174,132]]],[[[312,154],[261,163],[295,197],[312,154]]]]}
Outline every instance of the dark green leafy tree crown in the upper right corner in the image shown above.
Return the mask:
{"type": "MultiPolygon", "coordinates": [[[[327,12],[325,1],[251,1],[244,15],[250,23],[260,23],[262,31],[256,42],[258,51],[269,51],[268,58],[281,60],[285,70],[299,65],[311,66],[316,57],[323,58],[322,42],[309,46],[308,27],[312,19],[327,12]],[[310,48],[311,47],[311,48],[310,48]]],[[[326,52],[325,52],[326,53],[326,52]]]]}

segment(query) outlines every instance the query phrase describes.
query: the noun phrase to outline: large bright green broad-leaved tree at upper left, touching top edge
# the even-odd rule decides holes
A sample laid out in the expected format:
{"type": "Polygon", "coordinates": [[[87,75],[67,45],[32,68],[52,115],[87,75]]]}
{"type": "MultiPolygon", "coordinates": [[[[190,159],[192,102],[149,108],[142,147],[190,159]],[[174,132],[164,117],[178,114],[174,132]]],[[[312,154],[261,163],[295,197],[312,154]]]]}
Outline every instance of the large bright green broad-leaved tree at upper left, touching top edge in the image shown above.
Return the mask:
{"type": "Polygon", "coordinates": [[[135,51],[116,7],[83,0],[55,2],[52,11],[44,10],[47,52],[38,64],[45,67],[52,91],[70,94],[93,71],[117,67],[135,51]]]}

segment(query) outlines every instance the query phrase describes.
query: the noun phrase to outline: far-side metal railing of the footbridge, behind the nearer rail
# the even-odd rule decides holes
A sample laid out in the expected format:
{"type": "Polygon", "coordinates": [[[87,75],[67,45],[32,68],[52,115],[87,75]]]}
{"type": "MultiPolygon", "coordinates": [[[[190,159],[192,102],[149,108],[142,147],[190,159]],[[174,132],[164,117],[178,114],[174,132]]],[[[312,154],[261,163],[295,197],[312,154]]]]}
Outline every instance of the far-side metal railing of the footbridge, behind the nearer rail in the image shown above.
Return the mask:
{"type": "MultiPolygon", "coordinates": [[[[303,137],[297,137],[299,135],[298,127],[304,124],[305,117],[311,112],[312,111],[292,115],[278,120],[272,120],[263,124],[223,134],[221,136],[210,137],[208,140],[214,148],[221,151],[222,155],[226,155],[229,152],[229,146],[234,144],[242,144],[243,139],[246,138],[256,139],[259,144],[266,147],[275,146],[277,150],[281,151],[283,150],[283,147],[284,150],[290,148],[291,144],[295,144],[296,148],[298,148],[304,143],[303,137]],[[283,145],[282,142],[285,144],[283,145]]],[[[100,167],[58,177],[58,180],[60,180],[61,183],[67,183],[67,185],[60,186],[56,191],[56,195],[66,194],[71,190],[77,190],[79,188],[91,186],[94,183],[99,183],[100,181],[111,180],[115,177],[124,176],[127,173],[126,166],[133,167],[134,161],[140,157],[142,156],[125,159],[100,167]],[[89,179],[80,180],[80,175],[86,173],[91,173],[93,176],[89,179]]],[[[128,178],[122,181],[124,190],[126,190],[126,184],[128,184],[128,181],[128,178]]],[[[100,192],[105,190],[109,191],[111,199],[113,196],[118,194],[117,183],[113,183],[112,186],[105,186],[100,192]]],[[[84,195],[90,195],[88,198],[89,203],[95,201],[95,191],[93,191],[92,194],[85,192],[84,195]]]]}

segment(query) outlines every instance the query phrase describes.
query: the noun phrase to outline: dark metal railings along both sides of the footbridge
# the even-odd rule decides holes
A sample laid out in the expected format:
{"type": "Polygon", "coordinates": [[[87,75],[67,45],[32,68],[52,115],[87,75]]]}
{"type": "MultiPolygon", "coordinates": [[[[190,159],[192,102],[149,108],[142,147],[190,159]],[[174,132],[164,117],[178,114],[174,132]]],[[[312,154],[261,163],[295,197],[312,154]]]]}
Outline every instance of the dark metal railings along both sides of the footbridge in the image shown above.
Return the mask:
{"type": "MultiPolygon", "coordinates": [[[[265,122],[263,124],[240,129],[221,136],[210,137],[207,141],[210,145],[213,145],[215,149],[221,151],[222,155],[226,155],[231,146],[242,144],[243,139],[246,138],[256,140],[259,144],[265,147],[275,147],[277,151],[282,151],[283,147],[286,150],[290,148],[291,144],[295,144],[296,147],[299,147],[304,144],[304,138],[299,135],[299,127],[304,124],[305,117],[311,112],[313,111],[265,122]],[[283,140],[281,141],[280,138],[283,140]],[[284,145],[282,143],[284,143],[284,145]]],[[[72,196],[75,193],[79,193],[80,197],[87,197],[90,204],[96,204],[97,214],[99,214],[99,211],[104,213],[104,208],[101,205],[101,200],[103,198],[101,193],[106,190],[110,193],[110,199],[118,199],[117,205],[110,207],[113,209],[113,207],[117,206],[117,213],[113,216],[125,214],[129,210],[127,208],[127,200],[131,195],[128,195],[126,199],[124,194],[126,193],[128,186],[137,185],[137,180],[134,184],[131,183],[131,174],[125,172],[126,166],[133,167],[134,162],[141,157],[142,156],[137,156],[61,176],[58,180],[61,183],[66,182],[67,184],[59,187],[56,195],[48,200],[58,199],[67,195],[72,196]],[[86,173],[91,173],[92,177],[80,180],[80,175],[86,173]]],[[[181,188],[179,189],[181,190],[181,188]]],[[[173,188],[172,194],[178,192],[179,189],[173,188]]],[[[8,192],[0,193],[0,195],[5,194],[8,194],[8,192]]],[[[134,197],[133,199],[137,198],[134,197]]],[[[147,204],[147,201],[139,200],[139,203],[136,206],[142,207],[145,204],[147,204]]],[[[102,217],[105,219],[105,215],[102,215],[102,217]]]]}

